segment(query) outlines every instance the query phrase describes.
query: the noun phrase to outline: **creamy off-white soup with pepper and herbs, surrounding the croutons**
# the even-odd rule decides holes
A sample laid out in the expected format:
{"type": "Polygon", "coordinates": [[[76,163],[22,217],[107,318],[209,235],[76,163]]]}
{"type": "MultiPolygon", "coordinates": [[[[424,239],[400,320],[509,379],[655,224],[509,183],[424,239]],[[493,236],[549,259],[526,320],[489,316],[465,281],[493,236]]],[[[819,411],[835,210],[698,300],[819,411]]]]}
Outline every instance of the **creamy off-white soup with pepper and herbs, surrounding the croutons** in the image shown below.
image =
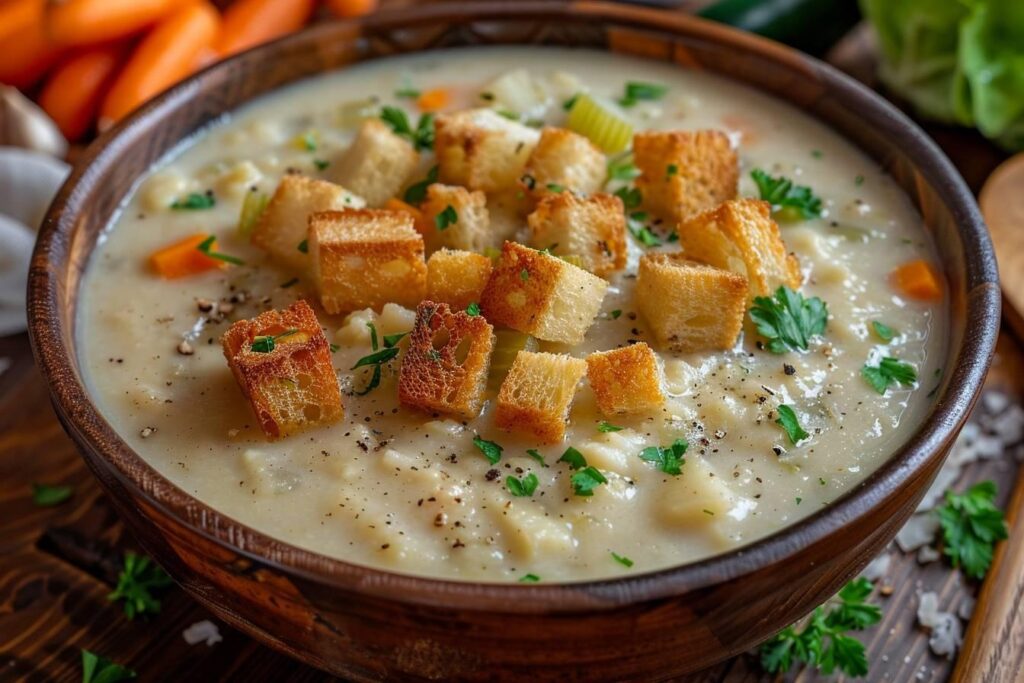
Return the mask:
{"type": "MultiPolygon", "coordinates": [[[[435,163],[424,152],[404,186],[435,163]]],[[[666,167],[667,176],[686,171],[666,167]]],[[[628,197],[631,174],[618,175],[603,191],[625,187],[620,196],[628,197]]],[[[487,198],[492,229],[526,242],[524,213],[508,210],[508,201],[487,198]]],[[[855,486],[908,437],[941,376],[947,315],[942,299],[914,299],[894,284],[894,270],[915,260],[937,263],[900,188],[784,101],[709,74],[601,52],[473,48],[311,79],[185,141],[140,181],[103,236],[83,284],[78,335],[91,392],[125,440],[176,485],[260,531],[430,577],[614,578],[707,558],[793,524],[855,486]],[[664,403],[603,414],[584,379],[564,438],[541,443],[496,425],[500,378],[472,419],[402,405],[408,338],[382,366],[379,386],[359,395],[372,367],[351,369],[373,351],[367,324],[381,337],[408,332],[414,311],[388,304],[328,314],[306,270],[239,236],[253,188],[272,194],[286,173],[333,179],[361,118],[392,105],[415,126],[413,90],[443,88],[449,110],[494,108],[537,128],[565,126],[563,103],[581,92],[614,102],[638,81],[664,88],[634,88],[636,101],[606,106],[636,131],[724,131],[738,154],[740,198],[759,197],[754,169],[820,198],[820,216],[776,215],[786,251],[799,259],[797,289],[827,305],[826,329],[810,335],[807,350],[772,352],[745,312],[750,300],[731,348],[675,353],[658,344],[647,316],[656,313],[642,314],[634,298],[638,262],[680,246],[669,221],[633,216],[626,265],[607,274],[585,340],[530,348],[585,358],[645,342],[657,354],[664,403]],[[216,236],[216,251],[244,264],[174,279],[154,272],[152,253],[199,232],[216,236]],[[220,338],[232,322],[298,299],[314,307],[332,344],[345,416],[273,440],[232,377],[220,338]],[[887,357],[895,360],[878,370],[887,357]],[[477,445],[486,442],[502,449],[495,463],[477,445]],[[672,445],[683,442],[683,462],[674,463],[682,449],[672,445]],[[593,470],[562,458],[570,446],[593,470]],[[600,478],[573,480],[586,471],[600,478]]]]}

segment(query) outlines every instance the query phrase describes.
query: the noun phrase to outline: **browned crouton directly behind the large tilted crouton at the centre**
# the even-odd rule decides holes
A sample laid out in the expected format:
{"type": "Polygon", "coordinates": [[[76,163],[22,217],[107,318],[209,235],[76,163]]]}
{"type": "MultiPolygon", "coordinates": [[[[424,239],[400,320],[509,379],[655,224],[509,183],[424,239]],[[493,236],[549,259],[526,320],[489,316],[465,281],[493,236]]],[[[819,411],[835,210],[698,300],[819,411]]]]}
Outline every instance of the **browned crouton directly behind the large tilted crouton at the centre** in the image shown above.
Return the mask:
{"type": "Polygon", "coordinates": [[[553,254],[574,254],[583,267],[607,278],[626,267],[626,214],[613,195],[547,195],[526,219],[529,243],[553,254]]]}

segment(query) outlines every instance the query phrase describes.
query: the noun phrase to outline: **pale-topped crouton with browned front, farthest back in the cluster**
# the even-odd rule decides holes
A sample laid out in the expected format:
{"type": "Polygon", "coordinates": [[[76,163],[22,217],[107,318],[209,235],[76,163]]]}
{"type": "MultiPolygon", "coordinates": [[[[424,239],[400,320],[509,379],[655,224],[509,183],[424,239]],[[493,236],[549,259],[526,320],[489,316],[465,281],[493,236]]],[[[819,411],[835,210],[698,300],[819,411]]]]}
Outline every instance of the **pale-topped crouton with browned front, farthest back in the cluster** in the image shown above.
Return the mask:
{"type": "Polygon", "coordinates": [[[512,188],[540,136],[494,110],[441,114],[434,121],[440,180],[485,193],[512,188]]]}

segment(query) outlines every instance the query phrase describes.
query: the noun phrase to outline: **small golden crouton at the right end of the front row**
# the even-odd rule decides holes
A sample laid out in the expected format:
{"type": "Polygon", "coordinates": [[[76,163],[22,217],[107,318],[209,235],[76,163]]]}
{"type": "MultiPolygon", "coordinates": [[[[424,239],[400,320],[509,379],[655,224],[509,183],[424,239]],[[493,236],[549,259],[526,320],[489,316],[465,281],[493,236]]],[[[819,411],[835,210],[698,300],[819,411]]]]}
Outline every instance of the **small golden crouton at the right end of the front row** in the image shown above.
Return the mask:
{"type": "Polygon", "coordinates": [[[588,355],[587,380],[605,415],[649,411],[665,402],[657,357],[643,342],[588,355]]]}

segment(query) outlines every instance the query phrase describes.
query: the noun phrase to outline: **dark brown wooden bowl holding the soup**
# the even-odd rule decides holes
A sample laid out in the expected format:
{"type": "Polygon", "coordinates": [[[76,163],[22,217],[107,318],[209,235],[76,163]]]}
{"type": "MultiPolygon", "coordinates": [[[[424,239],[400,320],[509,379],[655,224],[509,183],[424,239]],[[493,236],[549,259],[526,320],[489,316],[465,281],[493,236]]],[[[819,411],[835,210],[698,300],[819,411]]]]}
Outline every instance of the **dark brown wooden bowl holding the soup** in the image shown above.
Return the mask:
{"type": "Polygon", "coordinates": [[[833,595],[913,511],[978,396],[999,324],[988,236],[948,160],[909,120],[825,65],[679,13],[609,3],[438,4],[323,25],[172,88],[93,144],[51,208],[29,321],[57,415],[139,542],[228,624],[335,674],[656,679],[741,652],[833,595]],[[221,113],[325,71],[494,43],[586,46],[707,69],[795,103],[882,164],[921,211],[950,286],[944,381],[913,436],[826,509],[700,562],[577,584],[436,581],[267,538],[172,485],[97,412],[75,354],[82,272],[132,183],[221,113]]]}

